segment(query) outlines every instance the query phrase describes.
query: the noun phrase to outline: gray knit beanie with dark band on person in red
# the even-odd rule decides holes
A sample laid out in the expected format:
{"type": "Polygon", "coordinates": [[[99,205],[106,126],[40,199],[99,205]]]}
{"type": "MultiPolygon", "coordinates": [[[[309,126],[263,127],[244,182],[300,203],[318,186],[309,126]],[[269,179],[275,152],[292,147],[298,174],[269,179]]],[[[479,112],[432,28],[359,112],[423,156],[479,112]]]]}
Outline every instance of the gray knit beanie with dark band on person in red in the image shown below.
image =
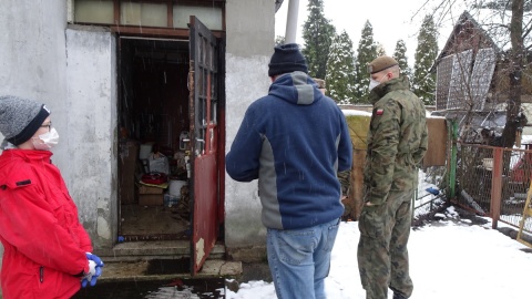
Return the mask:
{"type": "Polygon", "coordinates": [[[0,96],[0,133],[14,145],[29,141],[49,115],[47,106],[35,101],[0,96]]]}

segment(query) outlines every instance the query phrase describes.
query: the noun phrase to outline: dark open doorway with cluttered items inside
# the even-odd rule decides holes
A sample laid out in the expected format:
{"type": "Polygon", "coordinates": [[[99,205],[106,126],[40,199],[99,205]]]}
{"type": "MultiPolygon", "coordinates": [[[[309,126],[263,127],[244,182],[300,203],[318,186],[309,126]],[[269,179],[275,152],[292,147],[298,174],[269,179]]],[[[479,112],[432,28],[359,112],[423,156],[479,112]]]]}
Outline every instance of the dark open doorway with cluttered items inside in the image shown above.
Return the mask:
{"type": "Polygon", "coordinates": [[[190,42],[121,37],[117,48],[119,240],[190,239],[190,42]]]}

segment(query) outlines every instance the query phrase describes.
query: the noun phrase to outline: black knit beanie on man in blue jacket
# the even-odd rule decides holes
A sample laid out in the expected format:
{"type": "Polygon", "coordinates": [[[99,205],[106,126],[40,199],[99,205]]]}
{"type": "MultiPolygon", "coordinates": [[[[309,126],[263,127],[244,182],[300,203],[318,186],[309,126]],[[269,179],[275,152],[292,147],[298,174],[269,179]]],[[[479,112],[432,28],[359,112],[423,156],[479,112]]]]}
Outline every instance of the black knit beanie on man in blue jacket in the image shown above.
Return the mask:
{"type": "Polygon", "coordinates": [[[297,43],[287,43],[275,47],[275,52],[269,61],[268,75],[274,76],[284,73],[301,71],[308,73],[307,61],[299,51],[297,43]]]}

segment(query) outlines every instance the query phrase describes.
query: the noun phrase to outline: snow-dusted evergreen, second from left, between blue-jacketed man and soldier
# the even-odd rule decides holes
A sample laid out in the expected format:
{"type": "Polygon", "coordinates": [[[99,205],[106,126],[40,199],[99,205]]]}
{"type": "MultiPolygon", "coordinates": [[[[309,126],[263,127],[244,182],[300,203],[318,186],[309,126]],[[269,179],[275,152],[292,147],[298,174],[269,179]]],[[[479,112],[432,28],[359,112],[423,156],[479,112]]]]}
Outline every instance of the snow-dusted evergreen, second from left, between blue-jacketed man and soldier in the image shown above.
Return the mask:
{"type": "Polygon", "coordinates": [[[344,30],[332,41],[327,61],[327,93],[337,103],[349,104],[355,97],[352,41],[344,30]]]}

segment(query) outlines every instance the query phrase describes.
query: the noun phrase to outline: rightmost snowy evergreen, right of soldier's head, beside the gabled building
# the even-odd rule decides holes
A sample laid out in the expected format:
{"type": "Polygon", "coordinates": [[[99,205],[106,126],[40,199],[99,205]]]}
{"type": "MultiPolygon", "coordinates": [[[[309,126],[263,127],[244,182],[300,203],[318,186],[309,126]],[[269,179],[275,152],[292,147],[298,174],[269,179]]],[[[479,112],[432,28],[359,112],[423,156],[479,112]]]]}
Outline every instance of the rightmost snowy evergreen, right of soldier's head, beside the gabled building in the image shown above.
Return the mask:
{"type": "Polygon", "coordinates": [[[423,100],[424,104],[428,105],[433,105],[436,102],[436,72],[429,73],[429,70],[437,56],[438,32],[432,16],[427,16],[423,19],[418,35],[412,89],[413,92],[423,100]]]}

